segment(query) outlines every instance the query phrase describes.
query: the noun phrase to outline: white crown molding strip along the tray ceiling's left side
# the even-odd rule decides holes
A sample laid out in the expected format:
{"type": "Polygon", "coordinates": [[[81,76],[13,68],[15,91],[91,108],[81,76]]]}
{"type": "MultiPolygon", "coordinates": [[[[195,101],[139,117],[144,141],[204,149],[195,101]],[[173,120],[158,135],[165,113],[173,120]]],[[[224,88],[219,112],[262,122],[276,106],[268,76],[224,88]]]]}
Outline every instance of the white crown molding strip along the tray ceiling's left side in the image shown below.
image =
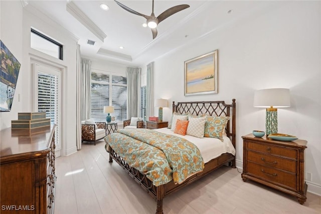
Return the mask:
{"type": "Polygon", "coordinates": [[[91,33],[93,33],[99,40],[104,42],[107,35],[100,30],[100,28],[93,23],[72,1],[66,5],[66,11],[85,26],[91,33]]]}

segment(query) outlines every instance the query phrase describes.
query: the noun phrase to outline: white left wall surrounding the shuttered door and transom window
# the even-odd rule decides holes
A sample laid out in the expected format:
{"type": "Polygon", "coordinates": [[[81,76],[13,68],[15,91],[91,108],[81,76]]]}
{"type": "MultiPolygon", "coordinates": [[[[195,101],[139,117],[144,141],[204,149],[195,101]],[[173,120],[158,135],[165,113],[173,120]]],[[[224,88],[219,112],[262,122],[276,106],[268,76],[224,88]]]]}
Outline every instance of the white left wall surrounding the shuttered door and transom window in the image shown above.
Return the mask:
{"type": "Polygon", "coordinates": [[[20,1],[1,1],[1,39],[21,63],[13,108],[0,113],[1,127],[11,126],[18,119],[18,112],[34,112],[33,72],[31,58],[61,68],[62,72],[62,155],[77,151],[76,147],[76,38],[66,30],[32,8],[22,7],[20,1]],[[14,12],[14,13],[13,13],[14,12]],[[37,15],[36,15],[37,14],[37,15]],[[36,28],[54,38],[64,48],[63,61],[30,48],[30,29],[36,28]]]}

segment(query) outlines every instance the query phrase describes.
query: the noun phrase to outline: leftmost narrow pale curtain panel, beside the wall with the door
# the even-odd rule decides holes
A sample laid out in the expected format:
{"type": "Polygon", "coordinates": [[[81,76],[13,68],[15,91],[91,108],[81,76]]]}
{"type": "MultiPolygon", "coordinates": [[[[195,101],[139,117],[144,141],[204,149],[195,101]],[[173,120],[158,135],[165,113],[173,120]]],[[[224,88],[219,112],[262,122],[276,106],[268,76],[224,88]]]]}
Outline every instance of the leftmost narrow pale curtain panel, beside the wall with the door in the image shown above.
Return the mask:
{"type": "Polygon", "coordinates": [[[76,51],[76,144],[77,149],[81,149],[81,58],[80,58],[80,45],[77,44],[76,51]]]}

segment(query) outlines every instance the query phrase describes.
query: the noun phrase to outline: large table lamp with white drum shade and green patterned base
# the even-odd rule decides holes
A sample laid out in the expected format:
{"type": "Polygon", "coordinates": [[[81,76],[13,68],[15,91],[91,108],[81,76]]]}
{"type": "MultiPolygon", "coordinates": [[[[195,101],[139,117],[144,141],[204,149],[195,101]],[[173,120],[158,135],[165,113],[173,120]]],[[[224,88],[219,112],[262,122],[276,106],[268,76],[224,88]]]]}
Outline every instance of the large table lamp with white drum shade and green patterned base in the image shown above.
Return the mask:
{"type": "Polygon", "coordinates": [[[290,107],[290,90],[271,88],[255,91],[253,106],[266,108],[266,136],[277,133],[277,108],[290,107]]]}

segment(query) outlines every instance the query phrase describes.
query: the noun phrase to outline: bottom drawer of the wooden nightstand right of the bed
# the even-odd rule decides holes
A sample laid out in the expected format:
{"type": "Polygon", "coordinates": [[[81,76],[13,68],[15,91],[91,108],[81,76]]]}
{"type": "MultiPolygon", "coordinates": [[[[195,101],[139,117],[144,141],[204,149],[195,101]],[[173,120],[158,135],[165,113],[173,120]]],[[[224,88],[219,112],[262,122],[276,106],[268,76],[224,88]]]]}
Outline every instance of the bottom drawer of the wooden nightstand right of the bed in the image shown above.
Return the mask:
{"type": "Polygon", "coordinates": [[[269,182],[296,189],[296,175],[289,172],[247,161],[247,173],[269,182]]]}

